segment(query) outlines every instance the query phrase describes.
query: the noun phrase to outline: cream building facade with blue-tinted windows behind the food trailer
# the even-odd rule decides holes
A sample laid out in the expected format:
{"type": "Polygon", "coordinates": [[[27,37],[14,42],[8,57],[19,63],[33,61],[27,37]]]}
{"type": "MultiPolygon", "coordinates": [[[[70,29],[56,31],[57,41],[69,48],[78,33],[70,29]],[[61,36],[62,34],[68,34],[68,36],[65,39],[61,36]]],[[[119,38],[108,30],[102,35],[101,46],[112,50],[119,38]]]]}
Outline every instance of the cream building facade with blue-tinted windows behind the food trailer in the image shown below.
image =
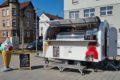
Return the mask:
{"type": "Polygon", "coordinates": [[[120,47],[120,0],[64,0],[64,18],[99,16],[117,29],[120,47]]]}

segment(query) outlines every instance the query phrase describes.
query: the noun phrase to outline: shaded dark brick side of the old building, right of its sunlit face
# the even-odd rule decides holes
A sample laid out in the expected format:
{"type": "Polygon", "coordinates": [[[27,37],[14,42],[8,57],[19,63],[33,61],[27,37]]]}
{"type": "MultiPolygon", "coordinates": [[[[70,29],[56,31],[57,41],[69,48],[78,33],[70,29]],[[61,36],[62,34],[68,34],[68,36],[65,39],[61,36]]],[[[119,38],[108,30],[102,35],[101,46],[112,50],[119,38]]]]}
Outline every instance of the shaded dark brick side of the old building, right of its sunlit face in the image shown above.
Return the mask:
{"type": "Polygon", "coordinates": [[[31,2],[20,3],[20,42],[31,42],[36,38],[36,14],[31,2]],[[24,35],[23,35],[24,34],[24,35]]]}

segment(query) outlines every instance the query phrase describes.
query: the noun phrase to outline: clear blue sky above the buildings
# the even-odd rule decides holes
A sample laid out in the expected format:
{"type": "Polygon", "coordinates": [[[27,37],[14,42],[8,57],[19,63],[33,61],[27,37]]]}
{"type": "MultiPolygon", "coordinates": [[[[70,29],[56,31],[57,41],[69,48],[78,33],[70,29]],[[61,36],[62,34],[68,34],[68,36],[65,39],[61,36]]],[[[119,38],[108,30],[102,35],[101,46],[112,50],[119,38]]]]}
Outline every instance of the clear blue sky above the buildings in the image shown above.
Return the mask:
{"type": "MultiPolygon", "coordinates": [[[[0,0],[0,4],[5,0],[0,0]]],[[[42,12],[50,13],[60,17],[64,16],[63,13],[63,0],[19,0],[20,2],[32,1],[34,7],[37,9],[38,15],[42,12]]]]}

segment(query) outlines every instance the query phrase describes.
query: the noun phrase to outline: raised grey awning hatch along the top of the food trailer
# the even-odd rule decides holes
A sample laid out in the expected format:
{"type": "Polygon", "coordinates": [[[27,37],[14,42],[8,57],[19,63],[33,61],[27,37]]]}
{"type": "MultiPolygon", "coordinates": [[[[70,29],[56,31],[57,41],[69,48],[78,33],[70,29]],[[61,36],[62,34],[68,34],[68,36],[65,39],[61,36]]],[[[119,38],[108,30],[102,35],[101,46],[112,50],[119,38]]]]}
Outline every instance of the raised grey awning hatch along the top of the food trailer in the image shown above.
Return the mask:
{"type": "Polygon", "coordinates": [[[99,25],[99,17],[79,18],[79,19],[63,19],[63,20],[52,20],[48,23],[53,27],[59,26],[80,26],[80,25],[99,25]]]}

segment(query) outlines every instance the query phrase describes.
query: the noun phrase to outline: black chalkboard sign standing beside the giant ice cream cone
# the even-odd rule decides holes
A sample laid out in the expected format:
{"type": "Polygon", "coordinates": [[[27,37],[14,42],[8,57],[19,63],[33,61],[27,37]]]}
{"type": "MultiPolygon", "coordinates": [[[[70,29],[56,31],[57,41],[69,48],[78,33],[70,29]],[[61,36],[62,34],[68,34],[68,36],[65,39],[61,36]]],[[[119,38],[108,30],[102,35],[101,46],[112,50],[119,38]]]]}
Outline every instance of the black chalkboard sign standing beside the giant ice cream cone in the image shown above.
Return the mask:
{"type": "Polygon", "coordinates": [[[20,68],[31,68],[30,54],[20,54],[20,68]]]}

